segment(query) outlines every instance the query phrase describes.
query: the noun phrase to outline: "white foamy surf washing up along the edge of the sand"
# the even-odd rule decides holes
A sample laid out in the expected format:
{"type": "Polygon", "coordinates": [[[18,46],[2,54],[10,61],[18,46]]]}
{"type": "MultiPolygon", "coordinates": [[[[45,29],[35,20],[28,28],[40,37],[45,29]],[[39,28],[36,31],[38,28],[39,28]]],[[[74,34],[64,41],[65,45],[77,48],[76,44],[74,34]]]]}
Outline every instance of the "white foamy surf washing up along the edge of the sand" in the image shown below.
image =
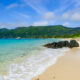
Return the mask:
{"type": "Polygon", "coordinates": [[[32,80],[34,76],[41,74],[50,65],[55,64],[57,59],[68,50],[68,48],[62,48],[36,51],[24,62],[11,64],[8,74],[0,76],[0,80],[32,80]]]}

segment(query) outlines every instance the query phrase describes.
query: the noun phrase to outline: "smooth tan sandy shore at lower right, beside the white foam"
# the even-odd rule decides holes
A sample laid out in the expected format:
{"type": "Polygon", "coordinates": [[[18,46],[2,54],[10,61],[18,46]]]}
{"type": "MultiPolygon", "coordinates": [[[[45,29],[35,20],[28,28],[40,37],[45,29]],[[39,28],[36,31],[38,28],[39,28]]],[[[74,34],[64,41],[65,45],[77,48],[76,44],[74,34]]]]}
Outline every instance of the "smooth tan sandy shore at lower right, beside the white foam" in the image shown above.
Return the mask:
{"type": "Polygon", "coordinates": [[[32,80],[80,80],[80,48],[71,49],[32,80]]]}

